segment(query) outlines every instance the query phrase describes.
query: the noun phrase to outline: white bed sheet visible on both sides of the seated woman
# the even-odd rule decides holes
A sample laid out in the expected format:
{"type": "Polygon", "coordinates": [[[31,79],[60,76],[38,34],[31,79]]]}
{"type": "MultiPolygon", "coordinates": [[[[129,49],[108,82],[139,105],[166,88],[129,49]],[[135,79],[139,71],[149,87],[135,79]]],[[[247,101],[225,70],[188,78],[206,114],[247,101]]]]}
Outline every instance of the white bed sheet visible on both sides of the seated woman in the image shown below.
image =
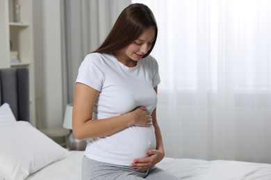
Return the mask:
{"type": "MultiPolygon", "coordinates": [[[[67,158],[31,174],[26,180],[80,180],[82,158],[83,152],[72,151],[67,158]]],[[[157,166],[186,180],[271,180],[271,164],[267,163],[165,158],[157,166]]]]}

